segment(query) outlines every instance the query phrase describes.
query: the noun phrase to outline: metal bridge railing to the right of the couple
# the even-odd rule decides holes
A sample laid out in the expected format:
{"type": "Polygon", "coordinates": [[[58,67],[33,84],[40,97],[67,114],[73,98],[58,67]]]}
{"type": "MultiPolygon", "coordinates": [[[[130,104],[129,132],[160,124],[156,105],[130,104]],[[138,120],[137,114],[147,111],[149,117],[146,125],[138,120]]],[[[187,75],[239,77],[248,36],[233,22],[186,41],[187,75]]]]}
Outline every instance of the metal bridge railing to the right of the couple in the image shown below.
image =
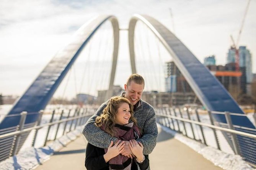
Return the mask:
{"type": "MultiPolygon", "coordinates": [[[[229,138],[227,140],[228,144],[231,146],[231,149],[235,154],[238,154],[243,157],[249,164],[256,167],[256,129],[241,127],[237,125],[233,125],[232,119],[230,115],[233,116],[246,116],[245,114],[236,114],[230,112],[215,112],[215,111],[207,111],[204,116],[208,116],[207,123],[201,121],[201,116],[199,115],[198,109],[192,111],[188,111],[185,109],[181,111],[180,108],[157,108],[157,122],[165,127],[169,127],[171,130],[175,130],[178,133],[182,133],[189,138],[200,141],[201,143],[208,145],[207,135],[205,133],[205,128],[210,128],[212,130],[215,147],[219,150],[222,150],[220,141],[218,136],[220,133],[218,131],[224,132],[225,138],[229,138]],[[185,113],[184,113],[185,112],[185,113]],[[179,113],[179,116],[178,114],[179,113]],[[225,115],[225,119],[227,123],[215,122],[213,119],[213,114],[223,114],[225,115]],[[193,119],[191,118],[193,117],[193,119]],[[243,143],[238,143],[238,140],[243,140],[243,143]],[[231,141],[231,142],[230,142],[231,141]],[[243,153],[241,153],[241,149],[243,149],[243,153]]],[[[253,120],[256,124],[256,115],[253,115],[253,120]]],[[[213,145],[213,144],[211,144],[213,145]]],[[[227,149],[227,148],[225,148],[227,149]]]]}

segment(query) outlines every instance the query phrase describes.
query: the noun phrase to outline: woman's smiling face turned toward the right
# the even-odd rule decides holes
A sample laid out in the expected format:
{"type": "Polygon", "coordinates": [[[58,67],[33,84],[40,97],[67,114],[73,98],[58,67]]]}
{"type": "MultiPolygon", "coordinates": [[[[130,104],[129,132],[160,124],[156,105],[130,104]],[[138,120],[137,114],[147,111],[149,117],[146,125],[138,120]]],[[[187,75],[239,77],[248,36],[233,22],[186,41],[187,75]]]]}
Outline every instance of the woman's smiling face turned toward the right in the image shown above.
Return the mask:
{"type": "Polygon", "coordinates": [[[130,119],[130,107],[128,103],[120,104],[116,114],[116,123],[119,125],[126,125],[130,119]]]}

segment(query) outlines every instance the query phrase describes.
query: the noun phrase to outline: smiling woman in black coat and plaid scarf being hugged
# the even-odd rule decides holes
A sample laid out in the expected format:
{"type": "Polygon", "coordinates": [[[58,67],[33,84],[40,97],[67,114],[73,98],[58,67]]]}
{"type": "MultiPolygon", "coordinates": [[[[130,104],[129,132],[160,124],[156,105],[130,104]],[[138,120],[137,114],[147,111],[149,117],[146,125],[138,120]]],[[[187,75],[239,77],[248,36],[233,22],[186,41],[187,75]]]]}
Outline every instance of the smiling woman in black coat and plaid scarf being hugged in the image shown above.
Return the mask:
{"type": "Polygon", "coordinates": [[[90,143],[86,146],[85,167],[87,170],[146,170],[149,166],[148,156],[144,156],[143,145],[136,140],[141,133],[133,116],[133,106],[126,98],[115,96],[109,99],[103,113],[96,118],[96,126],[119,140],[111,141],[108,149],[98,148],[90,143]],[[129,147],[134,159],[122,156],[124,141],[129,141],[129,147]]]}

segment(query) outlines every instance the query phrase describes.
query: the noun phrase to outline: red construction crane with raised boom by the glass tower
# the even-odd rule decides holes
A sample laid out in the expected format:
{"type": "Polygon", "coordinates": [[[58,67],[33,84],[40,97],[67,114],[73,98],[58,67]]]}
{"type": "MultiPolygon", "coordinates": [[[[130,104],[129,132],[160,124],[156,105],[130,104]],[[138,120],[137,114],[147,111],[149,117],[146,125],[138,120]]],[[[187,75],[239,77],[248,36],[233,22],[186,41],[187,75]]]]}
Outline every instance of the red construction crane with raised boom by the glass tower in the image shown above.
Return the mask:
{"type": "Polygon", "coordinates": [[[238,43],[239,43],[239,40],[240,40],[241,32],[243,30],[243,26],[244,26],[244,23],[245,23],[245,17],[246,17],[248,8],[249,8],[250,1],[251,0],[248,0],[247,6],[246,6],[246,9],[245,9],[245,14],[243,16],[242,24],[241,24],[241,27],[240,27],[240,30],[239,30],[239,33],[238,33],[238,37],[237,37],[236,43],[235,43],[234,38],[232,37],[232,35],[230,35],[230,38],[231,38],[232,43],[233,43],[233,45],[231,47],[233,49],[235,49],[235,64],[236,64],[235,66],[236,66],[236,71],[239,71],[239,47],[238,47],[238,43]]]}

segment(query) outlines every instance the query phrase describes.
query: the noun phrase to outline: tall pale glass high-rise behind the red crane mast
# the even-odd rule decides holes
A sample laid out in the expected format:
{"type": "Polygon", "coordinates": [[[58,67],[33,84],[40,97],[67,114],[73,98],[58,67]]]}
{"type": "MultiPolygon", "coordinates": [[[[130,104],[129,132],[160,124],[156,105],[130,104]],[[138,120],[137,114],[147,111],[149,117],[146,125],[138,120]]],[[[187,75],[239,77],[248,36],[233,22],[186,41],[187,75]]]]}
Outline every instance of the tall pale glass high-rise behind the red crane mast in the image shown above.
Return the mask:
{"type": "MultiPolygon", "coordinates": [[[[231,47],[227,54],[227,63],[235,63],[235,48],[231,47]]],[[[253,80],[251,53],[245,46],[239,47],[239,66],[245,67],[246,83],[253,80]]]]}

